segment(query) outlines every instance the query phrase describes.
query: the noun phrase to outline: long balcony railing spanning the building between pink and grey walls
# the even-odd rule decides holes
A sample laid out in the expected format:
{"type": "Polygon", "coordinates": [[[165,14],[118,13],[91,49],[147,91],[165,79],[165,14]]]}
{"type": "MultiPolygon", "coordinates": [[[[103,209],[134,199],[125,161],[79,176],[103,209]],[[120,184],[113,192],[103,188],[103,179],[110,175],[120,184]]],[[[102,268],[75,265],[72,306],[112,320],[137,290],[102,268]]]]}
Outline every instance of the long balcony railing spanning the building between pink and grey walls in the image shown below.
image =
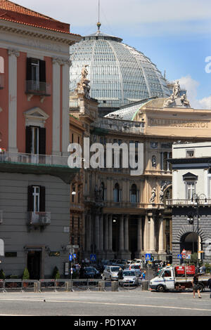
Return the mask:
{"type": "Polygon", "coordinates": [[[68,157],[56,156],[53,154],[23,154],[20,152],[4,152],[0,154],[0,163],[68,166],[68,157]]]}

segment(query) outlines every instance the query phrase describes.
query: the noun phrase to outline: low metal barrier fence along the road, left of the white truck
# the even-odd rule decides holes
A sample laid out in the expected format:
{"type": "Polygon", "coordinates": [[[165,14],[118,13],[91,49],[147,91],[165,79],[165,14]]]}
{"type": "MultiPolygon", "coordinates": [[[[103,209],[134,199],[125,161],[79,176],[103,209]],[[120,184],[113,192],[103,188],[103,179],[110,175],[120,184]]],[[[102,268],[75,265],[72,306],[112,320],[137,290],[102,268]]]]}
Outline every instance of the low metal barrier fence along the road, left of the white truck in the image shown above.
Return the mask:
{"type": "Polygon", "coordinates": [[[148,290],[148,281],[138,285],[103,279],[0,279],[0,292],[12,291],[125,291],[148,290]]]}

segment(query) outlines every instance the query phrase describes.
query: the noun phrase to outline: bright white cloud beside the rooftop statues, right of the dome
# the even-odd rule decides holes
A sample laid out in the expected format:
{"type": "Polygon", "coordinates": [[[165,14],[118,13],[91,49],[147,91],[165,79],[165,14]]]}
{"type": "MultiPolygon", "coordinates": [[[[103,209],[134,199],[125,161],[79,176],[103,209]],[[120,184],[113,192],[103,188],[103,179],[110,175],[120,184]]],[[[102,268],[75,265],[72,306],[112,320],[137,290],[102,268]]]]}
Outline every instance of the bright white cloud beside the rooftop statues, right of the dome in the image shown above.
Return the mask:
{"type": "Polygon", "coordinates": [[[211,110],[211,95],[206,98],[202,98],[201,100],[197,99],[197,88],[200,85],[198,81],[193,79],[189,74],[186,77],[176,79],[176,81],[178,80],[181,88],[184,88],[187,91],[187,98],[191,103],[191,107],[194,109],[211,110]]]}

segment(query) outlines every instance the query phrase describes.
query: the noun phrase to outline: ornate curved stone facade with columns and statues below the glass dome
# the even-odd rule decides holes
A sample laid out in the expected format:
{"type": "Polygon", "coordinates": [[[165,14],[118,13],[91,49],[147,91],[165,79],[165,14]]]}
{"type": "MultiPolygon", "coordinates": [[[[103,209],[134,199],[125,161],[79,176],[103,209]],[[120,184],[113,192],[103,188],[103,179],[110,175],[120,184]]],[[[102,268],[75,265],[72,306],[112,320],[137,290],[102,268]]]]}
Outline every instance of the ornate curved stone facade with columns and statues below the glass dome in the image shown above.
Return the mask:
{"type": "Polygon", "coordinates": [[[172,145],[178,140],[209,140],[211,126],[210,112],[193,110],[178,88],[175,84],[170,98],[134,103],[103,118],[97,115],[97,102],[85,92],[70,93],[70,114],[83,123],[90,146],[120,147],[119,167],[113,158],[108,168],[106,157],[95,169],[83,167],[84,257],[96,253],[98,260],[130,259],[152,253],[154,258],[171,259],[172,211],[165,199],[172,196],[172,145]],[[123,143],[128,149],[134,145],[139,175],[122,166],[123,143]]]}

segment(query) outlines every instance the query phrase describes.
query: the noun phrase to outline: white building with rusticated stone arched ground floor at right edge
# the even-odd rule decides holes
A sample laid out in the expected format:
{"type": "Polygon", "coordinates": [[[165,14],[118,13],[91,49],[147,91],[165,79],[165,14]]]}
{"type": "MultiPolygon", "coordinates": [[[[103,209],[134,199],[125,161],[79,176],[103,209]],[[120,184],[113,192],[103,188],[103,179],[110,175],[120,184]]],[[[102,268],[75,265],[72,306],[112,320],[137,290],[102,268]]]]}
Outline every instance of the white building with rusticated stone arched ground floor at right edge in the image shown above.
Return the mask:
{"type": "Polygon", "coordinates": [[[183,249],[211,262],[211,143],[173,145],[172,251],[173,262],[183,249]]]}

